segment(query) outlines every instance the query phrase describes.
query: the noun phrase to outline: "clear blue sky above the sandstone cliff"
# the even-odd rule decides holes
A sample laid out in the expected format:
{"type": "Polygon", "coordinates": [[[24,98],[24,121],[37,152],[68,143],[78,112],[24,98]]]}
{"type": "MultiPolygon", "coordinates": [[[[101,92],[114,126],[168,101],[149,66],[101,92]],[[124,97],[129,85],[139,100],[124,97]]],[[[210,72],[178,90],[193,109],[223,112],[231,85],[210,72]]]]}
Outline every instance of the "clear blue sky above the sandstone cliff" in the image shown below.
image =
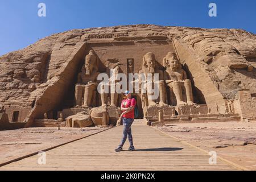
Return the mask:
{"type": "Polygon", "coordinates": [[[0,55],[74,28],[158,24],[241,28],[256,34],[255,0],[0,0],[0,55]],[[46,4],[46,17],[38,4],[46,4]],[[208,5],[217,5],[217,17],[208,5]]]}

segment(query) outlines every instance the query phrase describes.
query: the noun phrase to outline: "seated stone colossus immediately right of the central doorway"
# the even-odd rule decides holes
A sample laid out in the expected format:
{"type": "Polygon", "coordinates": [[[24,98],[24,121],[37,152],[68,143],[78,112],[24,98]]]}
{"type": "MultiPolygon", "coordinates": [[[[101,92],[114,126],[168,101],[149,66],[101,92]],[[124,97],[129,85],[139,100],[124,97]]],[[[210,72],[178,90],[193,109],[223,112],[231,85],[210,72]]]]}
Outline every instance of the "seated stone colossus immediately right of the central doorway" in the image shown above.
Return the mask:
{"type": "MultiPolygon", "coordinates": [[[[140,85],[142,84],[142,74],[144,74],[144,78],[146,78],[146,93],[142,93],[142,103],[143,106],[156,106],[156,99],[153,96],[155,93],[151,93],[149,90],[152,88],[152,84],[156,82],[154,80],[154,74],[158,73],[159,74],[159,79],[158,81],[158,86],[159,86],[159,105],[167,105],[165,104],[165,93],[164,93],[164,80],[163,80],[163,72],[158,69],[156,65],[156,60],[155,60],[155,55],[154,53],[148,52],[146,55],[143,57],[143,63],[142,63],[142,70],[139,71],[139,82],[140,85]],[[147,80],[147,75],[152,74],[152,80],[148,81],[147,80]]],[[[141,86],[140,86],[141,87],[141,86]]]]}

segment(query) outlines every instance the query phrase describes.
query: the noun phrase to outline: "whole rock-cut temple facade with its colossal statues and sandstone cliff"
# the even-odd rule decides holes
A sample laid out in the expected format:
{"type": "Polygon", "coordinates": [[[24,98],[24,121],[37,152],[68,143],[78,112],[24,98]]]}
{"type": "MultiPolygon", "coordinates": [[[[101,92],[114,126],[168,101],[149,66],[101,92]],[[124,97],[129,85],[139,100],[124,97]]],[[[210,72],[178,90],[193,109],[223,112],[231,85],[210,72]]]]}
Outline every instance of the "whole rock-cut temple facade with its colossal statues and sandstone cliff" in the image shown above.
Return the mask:
{"type": "Polygon", "coordinates": [[[99,92],[101,73],[157,73],[132,94],[148,125],[256,121],[255,34],[138,24],[62,32],[1,56],[0,129],[116,125],[123,95],[99,92]]]}

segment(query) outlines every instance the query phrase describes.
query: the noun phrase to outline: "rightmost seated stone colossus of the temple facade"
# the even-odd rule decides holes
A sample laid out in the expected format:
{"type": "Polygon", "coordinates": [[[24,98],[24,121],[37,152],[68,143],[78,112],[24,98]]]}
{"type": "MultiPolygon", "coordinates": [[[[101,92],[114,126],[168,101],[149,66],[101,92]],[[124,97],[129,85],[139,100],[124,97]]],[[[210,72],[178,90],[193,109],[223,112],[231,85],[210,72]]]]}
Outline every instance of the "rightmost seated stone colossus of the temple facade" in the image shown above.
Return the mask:
{"type": "Polygon", "coordinates": [[[182,69],[180,62],[174,52],[168,52],[163,60],[164,67],[164,80],[170,91],[174,92],[177,105],[194,105],[193,103],[193,93],[191,81],[187,79],[186,72],[182,69]],[[187,96],[187,102],[183,100],[182,89],[185,89],[185,94],[187,96]]]}

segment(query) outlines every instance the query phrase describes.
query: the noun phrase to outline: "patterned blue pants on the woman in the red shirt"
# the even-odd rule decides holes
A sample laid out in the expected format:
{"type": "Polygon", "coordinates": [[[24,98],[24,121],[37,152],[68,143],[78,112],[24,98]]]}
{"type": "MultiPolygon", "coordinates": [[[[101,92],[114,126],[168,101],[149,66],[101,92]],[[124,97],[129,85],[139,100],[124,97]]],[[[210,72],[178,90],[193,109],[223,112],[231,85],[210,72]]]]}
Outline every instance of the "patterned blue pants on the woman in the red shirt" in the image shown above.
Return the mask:
{"type": "Polygon", "coordinates": [[[122,118],[123,120],[123,138],[121,141],[121,144],[119,145],[119,147],[123,147],[123,145],[125,144],[125,141],[127,139],[128,136],[128,140],[130,142],[130,146],[133,146],[133,135],[131,135],[131,125],[133,124],[134,119],[131,118],[122,118]]]}

